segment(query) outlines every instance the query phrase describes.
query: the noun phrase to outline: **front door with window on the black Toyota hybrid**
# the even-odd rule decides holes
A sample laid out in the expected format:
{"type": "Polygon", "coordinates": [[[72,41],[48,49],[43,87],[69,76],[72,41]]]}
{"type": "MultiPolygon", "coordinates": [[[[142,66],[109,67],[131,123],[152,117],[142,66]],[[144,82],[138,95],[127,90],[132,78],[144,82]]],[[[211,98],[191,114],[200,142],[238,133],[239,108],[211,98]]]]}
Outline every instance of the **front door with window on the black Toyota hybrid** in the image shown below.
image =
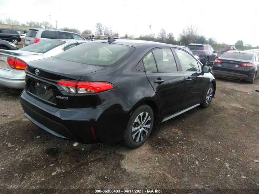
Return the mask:
{"type": "Polygon", "coordinates": [[[181,101],[183,110],[201,103],[209,78],[201,72],[201,64],[192,55],[178,48],[175,48],[174,51],[185,77],[185,93],[181,101]]]}

